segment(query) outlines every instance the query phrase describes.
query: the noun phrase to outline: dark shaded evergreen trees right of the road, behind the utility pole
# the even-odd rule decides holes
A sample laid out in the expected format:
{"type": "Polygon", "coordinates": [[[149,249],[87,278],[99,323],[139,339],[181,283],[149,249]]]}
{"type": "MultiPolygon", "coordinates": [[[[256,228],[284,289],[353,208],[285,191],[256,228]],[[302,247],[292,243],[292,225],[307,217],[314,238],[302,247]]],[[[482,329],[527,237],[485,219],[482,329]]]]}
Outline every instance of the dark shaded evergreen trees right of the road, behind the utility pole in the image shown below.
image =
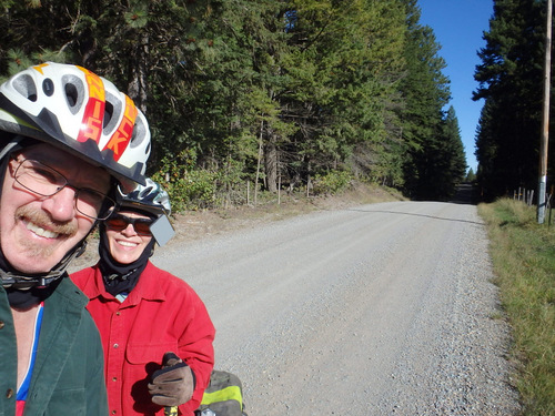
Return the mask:
{"type": "MultiPolygon", "coordinates": [[[[486,45],[478,51],[482,62],[474,74],[478,88],[473,94],[474,100],[484,100],[475,154],[476,179],[486,200],[513,196],[519,187],[536,190],[538,185],[546,14],[546,0],[494,1],[490,30],[484,33],[486,45]]],[[[551,193],[554,158],[551,145],[547,152],[551,193]]]]}

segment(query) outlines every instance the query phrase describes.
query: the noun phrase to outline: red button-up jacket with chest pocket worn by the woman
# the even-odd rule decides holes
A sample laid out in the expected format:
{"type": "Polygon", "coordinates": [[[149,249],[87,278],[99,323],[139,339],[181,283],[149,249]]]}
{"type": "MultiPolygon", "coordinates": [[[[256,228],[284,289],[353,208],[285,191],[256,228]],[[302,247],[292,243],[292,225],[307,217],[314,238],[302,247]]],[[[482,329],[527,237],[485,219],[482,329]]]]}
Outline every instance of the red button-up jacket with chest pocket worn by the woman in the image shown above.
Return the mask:
{"type": "Polygon", "coordinates": [[[87,308],[100,331],[110,414],[163,415],[147,385],[164,353],[174,352],[196,377],[193,398],[179,406],[180,414],[193,415],[214,365],[215,329],[191,286],[149,262],[120,303],[104,290],[98,266],[70,277],[90,298],[87,308]]]}

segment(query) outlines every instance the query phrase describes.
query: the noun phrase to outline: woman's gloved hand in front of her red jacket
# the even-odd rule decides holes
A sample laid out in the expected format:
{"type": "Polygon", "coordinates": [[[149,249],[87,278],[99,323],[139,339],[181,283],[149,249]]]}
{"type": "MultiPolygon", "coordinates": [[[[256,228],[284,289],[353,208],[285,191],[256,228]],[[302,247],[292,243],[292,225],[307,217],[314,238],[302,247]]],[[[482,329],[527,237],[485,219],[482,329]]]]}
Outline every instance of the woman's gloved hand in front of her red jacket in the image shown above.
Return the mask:
{"type": "Polygon", "coordinates": [[[194,376],[191,367],[174,353],[165,353],[163,366],[152,374],[149,393],[152,403],[160,406],[179,406],[193,397],[194,376]]]}

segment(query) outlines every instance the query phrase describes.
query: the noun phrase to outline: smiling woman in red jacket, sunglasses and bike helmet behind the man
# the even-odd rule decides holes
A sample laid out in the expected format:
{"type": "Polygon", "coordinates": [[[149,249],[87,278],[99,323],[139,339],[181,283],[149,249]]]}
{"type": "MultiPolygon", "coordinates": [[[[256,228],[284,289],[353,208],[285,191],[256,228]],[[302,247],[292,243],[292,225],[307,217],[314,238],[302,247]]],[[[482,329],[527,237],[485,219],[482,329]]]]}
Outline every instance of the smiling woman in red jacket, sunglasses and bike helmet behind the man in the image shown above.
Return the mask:
{"type": "Polygon", "coordinates": [[[71,275],[100,331],[112,415],[193,415],[214,365],[214,326],[196,293],[150,261],[173,230],[168,193],[151,181],[119,195],[100,225],[100,261],[71,275]]]}

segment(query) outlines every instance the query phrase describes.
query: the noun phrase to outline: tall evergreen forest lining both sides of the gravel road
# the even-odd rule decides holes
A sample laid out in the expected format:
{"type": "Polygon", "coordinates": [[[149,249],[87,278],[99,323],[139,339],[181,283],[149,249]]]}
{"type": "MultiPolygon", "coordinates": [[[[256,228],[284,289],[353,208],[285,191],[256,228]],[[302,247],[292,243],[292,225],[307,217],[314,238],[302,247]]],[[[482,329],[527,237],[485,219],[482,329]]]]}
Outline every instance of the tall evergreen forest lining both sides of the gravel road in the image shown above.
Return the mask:
{"type": "MultiPolygon", "coordinates": [[[[179,209],[353,180],[448,200],[466,173],[416,0],[0,0],[0,78],[88,68],[145,113],[148,174],[179,209]]],[[[537,181],[545,0],[496,0],[474,99],[487,194],[537,181]]],[[[553,160],[553,159],[551,159],[553,160]]],[[[474,172],[472,172],[474,177],[474,172]]]]}

